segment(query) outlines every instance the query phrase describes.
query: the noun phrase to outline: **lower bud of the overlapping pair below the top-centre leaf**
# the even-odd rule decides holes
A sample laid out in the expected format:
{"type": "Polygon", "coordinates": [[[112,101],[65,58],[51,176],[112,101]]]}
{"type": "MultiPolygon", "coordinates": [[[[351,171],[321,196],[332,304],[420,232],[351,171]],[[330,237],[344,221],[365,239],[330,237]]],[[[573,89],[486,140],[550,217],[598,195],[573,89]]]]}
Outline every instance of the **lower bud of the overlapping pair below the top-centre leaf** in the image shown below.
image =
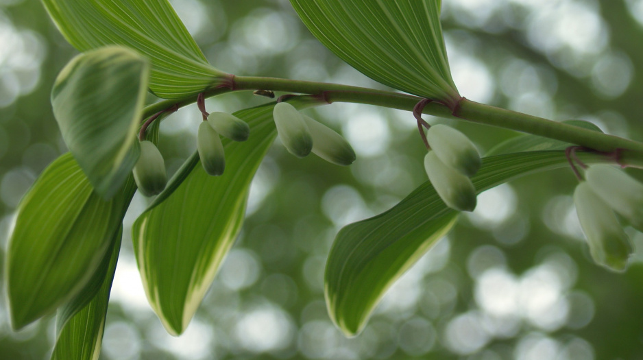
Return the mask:
{"type": "Polygon", "coordinates": [[[435,152],[424,156],[424,169],[437,195],[447,206],[457,211],[473,211],[476,208],[476,189],[471,180],[442,163],[435,152]]]}

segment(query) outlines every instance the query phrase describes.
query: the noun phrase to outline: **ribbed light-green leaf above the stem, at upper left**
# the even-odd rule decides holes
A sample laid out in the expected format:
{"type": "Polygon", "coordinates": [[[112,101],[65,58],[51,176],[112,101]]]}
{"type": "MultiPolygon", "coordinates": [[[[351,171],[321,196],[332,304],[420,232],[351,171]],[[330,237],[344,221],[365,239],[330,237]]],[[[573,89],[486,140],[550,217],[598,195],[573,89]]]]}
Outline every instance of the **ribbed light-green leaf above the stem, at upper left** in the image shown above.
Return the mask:
{"type": "Polygon", "coordinates": [[[195,95],[228,74],[208,64],[167,0],[43,0],[62,35],[80,51],[124,45],[151,60],[158,97],[195,95]]]}

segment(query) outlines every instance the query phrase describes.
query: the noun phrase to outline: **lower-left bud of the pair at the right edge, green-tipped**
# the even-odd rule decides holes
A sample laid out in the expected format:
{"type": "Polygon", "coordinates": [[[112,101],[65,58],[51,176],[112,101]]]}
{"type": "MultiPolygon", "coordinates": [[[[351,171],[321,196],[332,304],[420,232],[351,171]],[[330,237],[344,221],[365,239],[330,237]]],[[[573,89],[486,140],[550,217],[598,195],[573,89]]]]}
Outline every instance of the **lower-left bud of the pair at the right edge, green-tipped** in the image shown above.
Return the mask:
{"type": "Polygon", "coordinates": [[[594,193],[587,182],[576,187],[574,204],[590,245],[592,259],[608,269],[624,270],[633,248],[614,211],[594,193]]]}

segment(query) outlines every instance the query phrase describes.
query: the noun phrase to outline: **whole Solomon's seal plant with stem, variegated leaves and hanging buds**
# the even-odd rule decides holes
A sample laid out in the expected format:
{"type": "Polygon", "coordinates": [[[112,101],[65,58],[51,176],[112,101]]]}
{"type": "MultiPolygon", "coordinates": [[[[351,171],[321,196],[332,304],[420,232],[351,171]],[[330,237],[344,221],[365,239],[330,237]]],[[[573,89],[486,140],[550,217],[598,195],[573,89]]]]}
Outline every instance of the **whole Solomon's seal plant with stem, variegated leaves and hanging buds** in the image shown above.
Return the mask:
{"type": "MultiPolygon", "coordinates": [[[[299,158],[313,152],[337,165],[356,160],[348,141],[303,115],[306,108],[350,102],[406,110],[429,150],[430,181],[388,211],[341,228],[330,248],[326,307],[347,337],[363,331],[387,289],[449,232],[459,213],[474,210],[478,193],[567,166],[582,179],[574,163],[643,164],[643,143],[461,96],[439,0],[291,0],[330,51],[398,91],[223,72],[208,63],[167,0],[43,3],[81,51],[51,91],[69,153],[54,160],[21,201],[5,277],[14,329],[56,313],[55,359],[98,356],[123,216],[137,189],[157,195],[132,226],[147,300],[169,333],[184,333],[241,232],[250,183],[276,137],[299,158]],[[206,98],[233,91],[254,92],[266,102],[233,114],[206,111],[206,98]],[[271,101],[274,92],[284,95],[271,101]],[[147,102],[147,93],[162,100],[147,102]],[[167,181],[158,129],[190,104],[203,119],[196,151],[167,181]],[[481,159],[463,132],[430,125],[424,114],[526,134],[481,159]]],[[[574,202],[592,258],[622,271],[632,248],[614,212],[641,230],[643,187],[610,165],[590,167],[586,179],[574,202]]]]}

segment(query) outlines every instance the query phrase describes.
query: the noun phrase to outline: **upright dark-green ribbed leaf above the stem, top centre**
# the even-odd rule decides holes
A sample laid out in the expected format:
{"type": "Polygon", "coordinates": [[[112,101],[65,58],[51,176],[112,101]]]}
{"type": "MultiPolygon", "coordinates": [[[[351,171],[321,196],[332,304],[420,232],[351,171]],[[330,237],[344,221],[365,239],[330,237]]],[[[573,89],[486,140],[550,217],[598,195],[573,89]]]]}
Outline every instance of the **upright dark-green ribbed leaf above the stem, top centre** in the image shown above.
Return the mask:
{"type": "Polygon", "coordinates": [[[440,0],[291,0],[330,51],[368,77],[454,105],[440,0]]]}

